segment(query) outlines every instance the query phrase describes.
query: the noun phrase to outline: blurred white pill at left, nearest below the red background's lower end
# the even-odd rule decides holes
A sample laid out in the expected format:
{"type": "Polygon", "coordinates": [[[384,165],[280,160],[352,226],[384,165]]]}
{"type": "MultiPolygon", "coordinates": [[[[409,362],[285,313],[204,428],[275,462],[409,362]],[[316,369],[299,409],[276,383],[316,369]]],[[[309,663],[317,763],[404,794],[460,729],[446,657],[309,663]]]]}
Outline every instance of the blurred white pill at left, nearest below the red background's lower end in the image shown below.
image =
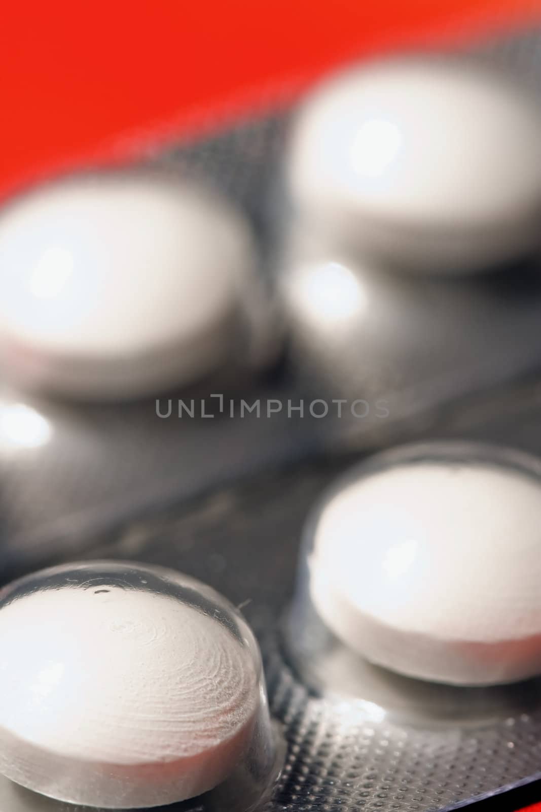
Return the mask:
{"type": "Polygon", "coordinates": [[[250,343],[255,266],[243,216],[195,185],[157,171],[49,185],[0,217],[0,361],[92,398],[200,378],[250,343]]]}

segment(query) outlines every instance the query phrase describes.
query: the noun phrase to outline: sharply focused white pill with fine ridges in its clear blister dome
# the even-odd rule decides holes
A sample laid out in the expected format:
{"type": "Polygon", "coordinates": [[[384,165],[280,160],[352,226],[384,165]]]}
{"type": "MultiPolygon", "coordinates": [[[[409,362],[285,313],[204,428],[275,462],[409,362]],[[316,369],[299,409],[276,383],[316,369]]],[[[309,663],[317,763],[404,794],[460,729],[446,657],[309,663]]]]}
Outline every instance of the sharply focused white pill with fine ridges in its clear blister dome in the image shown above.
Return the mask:
{"type": "Polygon", "coordinates": [[[121,563],[44,570],[0,592],[0,646],[0,772],[24,787],[111,809],[221,787],[234,808],[243,772],[269,778],[259,650],[198,581],[121,563]]]}

